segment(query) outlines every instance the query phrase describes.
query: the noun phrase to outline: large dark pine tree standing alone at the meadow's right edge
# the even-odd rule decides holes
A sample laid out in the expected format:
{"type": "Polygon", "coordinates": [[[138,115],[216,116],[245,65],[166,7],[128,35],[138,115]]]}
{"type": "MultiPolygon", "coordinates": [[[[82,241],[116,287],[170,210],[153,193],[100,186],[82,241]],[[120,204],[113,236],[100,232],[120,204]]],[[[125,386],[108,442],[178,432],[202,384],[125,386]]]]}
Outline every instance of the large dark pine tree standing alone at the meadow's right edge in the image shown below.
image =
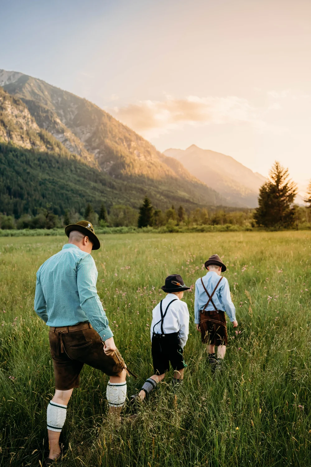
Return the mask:
{"type": "Polygon", "coordinates": [[[269,180],[259,191],[254,219],[258,226],[290,227],[295,222],[292,203],[297,194],[297,185],[289,179],[288,169],[275,162],[270,170],[269,180]]]}

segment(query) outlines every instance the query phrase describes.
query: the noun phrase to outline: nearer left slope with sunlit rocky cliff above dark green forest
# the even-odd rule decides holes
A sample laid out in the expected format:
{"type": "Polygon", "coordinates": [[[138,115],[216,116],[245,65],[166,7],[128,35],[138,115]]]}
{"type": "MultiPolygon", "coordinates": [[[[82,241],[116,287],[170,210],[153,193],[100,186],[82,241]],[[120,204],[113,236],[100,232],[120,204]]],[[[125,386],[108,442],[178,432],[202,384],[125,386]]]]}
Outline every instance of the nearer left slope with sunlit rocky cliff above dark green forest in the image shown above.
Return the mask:
{"type": "Polygon", "coordinates": [[[162,209],[204,205],[161,179],[138,184],[111,177],[90,156],[70,152],[37,125],[24,102],[0,88],[0,212],[19,218],[49,205],[62,215],[67,209],[82,213],[88,203],[99,211],[103,202],[138,208],[146,193],[162,209]]]}

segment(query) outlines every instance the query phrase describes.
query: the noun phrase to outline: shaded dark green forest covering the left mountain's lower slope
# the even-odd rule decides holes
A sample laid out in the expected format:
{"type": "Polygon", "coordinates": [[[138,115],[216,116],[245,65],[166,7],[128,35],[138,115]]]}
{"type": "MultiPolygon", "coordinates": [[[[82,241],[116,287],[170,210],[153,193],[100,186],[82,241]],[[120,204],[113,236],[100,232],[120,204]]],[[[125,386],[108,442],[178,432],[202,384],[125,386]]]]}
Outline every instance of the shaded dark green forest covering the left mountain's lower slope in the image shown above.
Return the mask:
{"type": "Polygon", "coordinates": [[[0,144],[0,212],[15,218],[24,213],[34,215],[47,204],[57,215],[67,209],[83,212],[87,203],[97,212],[102,202],[108,208],[116,204],[138,208],[145,194],[161,209],[172,203],[186,209],[198,206],[187,196],[150,180],[148,184],[137,184],[113,179],[74,156],[0,144]]]}

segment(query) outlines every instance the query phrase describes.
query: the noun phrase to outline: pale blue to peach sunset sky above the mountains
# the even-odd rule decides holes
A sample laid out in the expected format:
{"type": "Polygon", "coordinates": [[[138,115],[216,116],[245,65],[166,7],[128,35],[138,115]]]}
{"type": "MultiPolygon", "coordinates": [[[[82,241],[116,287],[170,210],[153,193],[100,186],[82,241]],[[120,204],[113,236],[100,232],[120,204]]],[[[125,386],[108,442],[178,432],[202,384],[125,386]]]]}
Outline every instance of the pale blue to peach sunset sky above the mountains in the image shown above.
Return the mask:
{"type": "Polygon", "coordinates": [[[310,0],[0,0],[0,68],[89,99],[160,151],[311,179],[310,0]]]}

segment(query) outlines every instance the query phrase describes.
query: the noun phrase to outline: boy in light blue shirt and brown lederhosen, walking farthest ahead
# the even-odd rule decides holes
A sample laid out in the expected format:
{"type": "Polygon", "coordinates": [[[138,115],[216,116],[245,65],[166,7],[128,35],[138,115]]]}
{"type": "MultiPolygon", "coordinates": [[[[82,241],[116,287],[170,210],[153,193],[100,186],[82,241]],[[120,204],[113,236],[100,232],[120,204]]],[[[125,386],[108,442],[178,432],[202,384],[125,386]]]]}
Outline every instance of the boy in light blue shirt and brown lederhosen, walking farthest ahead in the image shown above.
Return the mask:
{"type": "Polygon", "coordinates": [[[233,327],[238,325],[235,319],[235,305],[230,296],[229,283],[226,277],[219,277],[227,268],[218,255],[212,255],[205,262],[208,269],[206,276],[195,283],[194,323],[201,333],[202,343],[207,344],[208,360],[212,371],[221,369],[221,362],[226,353],[228,340],[228,318],[233,327]],[[215,345],[217,357],[215,357],[215,345]]]}

